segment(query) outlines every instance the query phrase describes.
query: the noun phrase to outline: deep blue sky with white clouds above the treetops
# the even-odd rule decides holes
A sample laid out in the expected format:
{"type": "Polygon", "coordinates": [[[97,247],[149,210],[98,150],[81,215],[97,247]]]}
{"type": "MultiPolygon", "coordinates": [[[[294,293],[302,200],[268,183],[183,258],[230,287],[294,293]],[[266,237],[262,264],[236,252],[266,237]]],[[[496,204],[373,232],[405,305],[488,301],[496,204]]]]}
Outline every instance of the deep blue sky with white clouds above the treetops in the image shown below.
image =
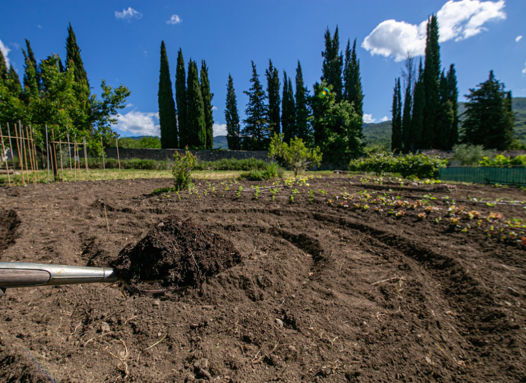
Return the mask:
{"type": "MultiPolygon", "coordinates": [[[[323,34],[338,25],[340,49],[357,39],[366,122],[391,118],[392,87],[403,58],[418,57],[425,22],[437,14],[443,67],[455,64],[459,94],[467,94],[490,69],[514,97],[526,97],[526,1],[524,0],[245,0],[74,1],[0,0],[0,48],[23,77],[24,38],[37,60],[65,58],[70,22],[92,92],[100,79],[127,86],[131,95],[114,129],[121,136],[159,134],[157,90],[164,40],[175,82],[177,51],[209,67],[215,135],[225,134],[228,74],[244,117],[254,60],[266,86],[268,60],[294,78],[298,60],[305,84],[321,76],[323,34]],[[523,37],[524,36],[524,37],[523,37]],[[216,109],[217,108],[217,109],[216,109]]],[[[463,97],[460,97],[463,100],[463,97]]]]}

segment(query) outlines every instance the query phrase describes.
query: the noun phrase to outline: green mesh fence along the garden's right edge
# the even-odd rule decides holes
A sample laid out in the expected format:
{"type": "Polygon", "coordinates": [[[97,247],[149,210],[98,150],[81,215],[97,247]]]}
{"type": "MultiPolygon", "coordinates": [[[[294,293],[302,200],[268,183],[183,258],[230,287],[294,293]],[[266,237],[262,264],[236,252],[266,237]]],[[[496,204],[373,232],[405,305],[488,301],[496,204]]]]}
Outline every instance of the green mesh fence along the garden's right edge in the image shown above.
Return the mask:
{"type": "Polygon", "coordinates": [[[438,178],[443,181],[526,185],[526,168],[441,168],[438,178]]]}

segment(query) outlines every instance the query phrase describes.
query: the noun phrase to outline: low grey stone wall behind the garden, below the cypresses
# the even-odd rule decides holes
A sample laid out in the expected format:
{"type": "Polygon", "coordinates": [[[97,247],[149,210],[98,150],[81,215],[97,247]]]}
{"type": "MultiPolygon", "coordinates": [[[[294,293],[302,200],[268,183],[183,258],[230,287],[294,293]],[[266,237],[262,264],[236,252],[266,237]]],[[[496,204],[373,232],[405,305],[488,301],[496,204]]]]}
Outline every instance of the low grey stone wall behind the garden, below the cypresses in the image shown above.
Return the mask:
{"type": "MultiPolygon", "coordinates": [[[[117,158],[116,148],[105,148],[106,158],[117,158]]],[[[119,148],[119,158],[129,160],[131,158],[140,158],[143,160],[164,161],[172,159],[175,152],[183,153],[184,149],[128,149],[119,148]]],[[[234,158],[242,160],[247,158],[256,158],[258,160],[270,161],[267,151],[255,150],[190,150],[200,161],[215,161],[221,159],[234,158]]]]}

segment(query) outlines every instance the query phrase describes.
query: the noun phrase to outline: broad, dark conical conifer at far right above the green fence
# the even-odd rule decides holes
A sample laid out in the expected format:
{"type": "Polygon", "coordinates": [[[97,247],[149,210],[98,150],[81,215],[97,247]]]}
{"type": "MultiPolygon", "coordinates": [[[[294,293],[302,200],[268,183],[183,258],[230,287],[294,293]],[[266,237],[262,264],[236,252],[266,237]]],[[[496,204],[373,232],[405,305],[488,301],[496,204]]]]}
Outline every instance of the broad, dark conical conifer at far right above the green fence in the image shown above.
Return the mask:
{"type": "Polygon", "coordinates": [[[466,119],[462,123],[464,143],[483,145],[486,149],[506,150],[513,138],[514,117],[511,92],[504,91],[490,71],[488,80],[470,89],[466,95],[466,119]]]}

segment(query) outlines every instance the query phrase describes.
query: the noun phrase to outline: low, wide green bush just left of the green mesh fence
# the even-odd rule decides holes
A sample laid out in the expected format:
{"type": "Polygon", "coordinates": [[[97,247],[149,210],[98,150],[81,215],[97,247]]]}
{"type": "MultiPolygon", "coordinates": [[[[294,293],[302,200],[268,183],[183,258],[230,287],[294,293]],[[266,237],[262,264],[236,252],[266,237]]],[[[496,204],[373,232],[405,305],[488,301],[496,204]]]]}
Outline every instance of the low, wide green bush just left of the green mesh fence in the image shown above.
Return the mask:
{"type": "Polygon", "coordinates": [[[375,156],[352,160],[349,163],[349,170],[373,172],[377,175],[389,172],[400,173],[402,177],[434,178],[438,175],[438,169],[446,165],[447,160],[421,153],[398,157],[393,156],[392,153],[377,153],[375,156]]]}

